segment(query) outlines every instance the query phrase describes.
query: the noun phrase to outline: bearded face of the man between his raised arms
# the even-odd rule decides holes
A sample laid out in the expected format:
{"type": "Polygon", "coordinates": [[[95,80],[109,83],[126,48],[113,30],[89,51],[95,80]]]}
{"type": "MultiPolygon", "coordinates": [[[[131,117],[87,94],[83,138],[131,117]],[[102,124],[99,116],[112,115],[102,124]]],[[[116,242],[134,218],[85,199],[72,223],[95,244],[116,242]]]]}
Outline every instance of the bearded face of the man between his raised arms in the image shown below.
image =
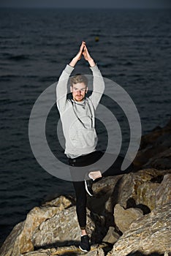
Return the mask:
{"type": "Polygon", "coordinates": [[[88,91],[88,87],[85,83],[75,83],[70,86],[70,91],[72,92],[72,97],[75,101],[82,102],[88,91]]]}

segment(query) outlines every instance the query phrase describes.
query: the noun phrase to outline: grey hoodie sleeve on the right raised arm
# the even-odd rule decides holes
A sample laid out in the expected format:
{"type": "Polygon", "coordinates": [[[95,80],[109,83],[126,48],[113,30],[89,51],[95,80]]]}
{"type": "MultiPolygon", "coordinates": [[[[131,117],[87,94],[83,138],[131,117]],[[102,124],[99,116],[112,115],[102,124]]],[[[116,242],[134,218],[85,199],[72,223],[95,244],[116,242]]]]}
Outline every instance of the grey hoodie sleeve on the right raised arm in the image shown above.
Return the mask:
{"type": "Polygon", "coordinates": [[[91,102],[94,105],[94,108],[96,110],[97,105],[99,104],[100,99],[102,98],[102,94],[104,92],[104,80],[102,77],[102,74],[99,70],[99,68],[96,66],[90,67],[91,71],[93,72],[93,92],[89,99],[91,99],[91,102]]]}

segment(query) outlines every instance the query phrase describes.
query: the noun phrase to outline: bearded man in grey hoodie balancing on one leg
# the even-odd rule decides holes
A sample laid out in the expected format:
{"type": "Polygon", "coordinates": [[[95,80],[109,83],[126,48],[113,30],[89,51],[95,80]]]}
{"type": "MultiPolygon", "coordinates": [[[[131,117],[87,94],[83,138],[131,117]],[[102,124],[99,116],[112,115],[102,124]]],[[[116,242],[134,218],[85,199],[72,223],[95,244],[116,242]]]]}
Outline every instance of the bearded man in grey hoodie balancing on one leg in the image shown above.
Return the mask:
{"type": "MultiPolygon", "coordinates": [[[[72,61],[66,65],[56,86],[56,104],[61,116],[64,137],[66,140],[65,154],[69,157],[69,165],[73,179],[76,195],[77,219],[81,230],[80,249],[83,252],[90,250],[89,238],[86,232],[86,191],[93,196],[90,181],[102,177],[99,167],[91,169],[104,153],[96,151],[97,135],[95,129],[95,110],[104,92],[104,80],[99,68],[91,58],[86,42],[82,42],[80,50],[72,61]],[[77,64],[77,61],[84,57],[93,72],[93,92],[86,97],[88,92],[88,80],[84,75],[75,75],[70,79],[70,91],[72,99],[66,99],[67,83],[69,75],[77,64]],[[80,167],[80,169],[79,169],[80,167]],[[84,169],[82,167],[85,167],[84,169]]],[[[120,160],[118,159],[120,166],[120,160]]],[[[115,162],[117,163],[117,161],[115,162]]],[[[119,170],[116,164],[115,170],[119,170]]],[[[111,170],[111,169],[110,169],[111,170]]],[[[106,175],[111,175],[107,170],[106,175]]],[[[112,174],[116,175],[116,173],[112,174]]]]}

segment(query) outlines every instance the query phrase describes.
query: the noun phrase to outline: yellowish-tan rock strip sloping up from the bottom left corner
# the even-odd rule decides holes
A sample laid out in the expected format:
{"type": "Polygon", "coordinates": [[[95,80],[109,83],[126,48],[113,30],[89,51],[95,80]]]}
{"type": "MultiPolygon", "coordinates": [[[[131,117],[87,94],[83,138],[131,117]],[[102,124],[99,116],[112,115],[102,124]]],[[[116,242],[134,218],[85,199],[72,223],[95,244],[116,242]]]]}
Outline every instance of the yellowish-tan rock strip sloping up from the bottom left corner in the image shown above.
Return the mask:
{"type": "Polygon", "coordinates": [[[44,206],[34,207],[26,217],[24,222],[20,222],[14,227],[12,232],[9,234],[4,244],[1,246],[1,256],[18,256],[20,253],[29,252],[34,249],[31,238],[39,225],[46,219],[58,214],[62,208],[69,207],[72,205],[71,201],[67,198],[61,197],[58,200],[64,200],[64,203],[58,207],[44,206]]]}

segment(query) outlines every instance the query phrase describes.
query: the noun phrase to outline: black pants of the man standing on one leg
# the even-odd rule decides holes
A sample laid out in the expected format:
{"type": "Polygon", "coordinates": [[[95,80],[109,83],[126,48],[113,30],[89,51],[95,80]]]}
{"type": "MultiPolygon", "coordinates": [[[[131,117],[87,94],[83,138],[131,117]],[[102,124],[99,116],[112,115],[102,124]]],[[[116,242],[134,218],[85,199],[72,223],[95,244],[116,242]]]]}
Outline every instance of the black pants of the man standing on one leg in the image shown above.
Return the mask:
{"type": "MultiPolygon", "coordinates": [[[[102,170],[104,166],[96,165],[96,161],[101,159],[101,157],[104,155],[101,151],[94,151],[90,154],[86,154],[85,156],[80,156],[74,159],[69,158],[69,165],[70,165],[70,171],[73,178],[73,185],[75,188],[75,196],[76,196],[76,212],[77,212],[77,219],[78,223],[80,225],[80,229],[84,230],[86,229],[86,203],[87,203],[87,197],[86,197],[86,187],[84,182],[84,176],[87,172],[91,172],[90,168],[88,168],[88,165],[94,164],[93,170],[102,170]],[[75,168],[76,167],[76,168],[75,168]],[[83,172],[79,172],[79,168],[77,167],[86,167],[83,172]],[[77,181],[77,179],[79,181],[77,181]]],[[[133,170],[133,164],[130,163],[129,167],[126,168],[126,170],[121,170],[121,165],[123,162],[123,157],[118,156],[115,157],[112,154],[107,154],[107,157],[109,159],[116,158],[115,162],[111,167],[109,167],[107,170],[102,172],[102,177],[107,176],[115,176],[123,173],[129,173],[133,170]]]]}

